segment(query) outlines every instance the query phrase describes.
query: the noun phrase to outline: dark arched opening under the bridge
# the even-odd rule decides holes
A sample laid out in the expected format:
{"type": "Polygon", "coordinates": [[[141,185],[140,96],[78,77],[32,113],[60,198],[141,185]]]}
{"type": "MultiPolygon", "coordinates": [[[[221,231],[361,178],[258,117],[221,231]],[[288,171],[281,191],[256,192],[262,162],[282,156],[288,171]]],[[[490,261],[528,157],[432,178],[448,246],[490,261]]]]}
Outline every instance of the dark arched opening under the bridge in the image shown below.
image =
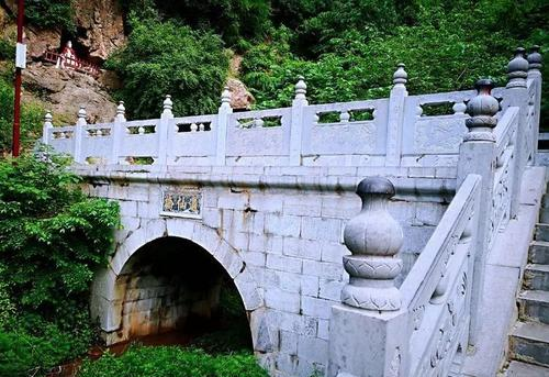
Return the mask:
{"type": "MultiPolygon", "coordinates": [[[[139,247],[120,271],[116,342],[253,350],[246,310],[225,268],[200,245],[165,236],[139,247]]],[[[211,348],[211,350],[210,350],[211,348]]]]}

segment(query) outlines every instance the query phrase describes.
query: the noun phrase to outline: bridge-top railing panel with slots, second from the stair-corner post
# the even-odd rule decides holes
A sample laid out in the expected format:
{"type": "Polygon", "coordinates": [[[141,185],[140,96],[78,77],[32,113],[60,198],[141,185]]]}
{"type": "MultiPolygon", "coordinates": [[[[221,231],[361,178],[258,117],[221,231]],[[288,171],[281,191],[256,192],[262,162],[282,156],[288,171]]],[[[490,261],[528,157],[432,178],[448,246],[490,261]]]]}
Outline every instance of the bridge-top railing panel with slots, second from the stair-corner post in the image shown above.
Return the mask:
{"type": "Polygon", "coordinates": [[[309,106],[303,155],[384,154],[389,100],[309,106]]]}

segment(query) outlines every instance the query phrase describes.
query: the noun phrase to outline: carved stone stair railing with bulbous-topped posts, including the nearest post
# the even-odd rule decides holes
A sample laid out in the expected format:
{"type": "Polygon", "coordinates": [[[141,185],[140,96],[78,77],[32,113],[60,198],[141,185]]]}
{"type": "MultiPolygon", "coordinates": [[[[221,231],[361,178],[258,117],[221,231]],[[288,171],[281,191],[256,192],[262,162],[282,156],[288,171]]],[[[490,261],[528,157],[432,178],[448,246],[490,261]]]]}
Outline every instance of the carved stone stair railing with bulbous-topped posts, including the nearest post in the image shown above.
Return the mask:
{"type": "MultiPolygon", "coordinates": [[[[428,133],[424,152],[436,151],[440,158],[458,145],[458,189],[400,287],[402,230],[383,203],[394,188],[384,178],[359,184],[362,211],[344,232],[350,278],[343,304],[333,308],[328,377],[362,376],[363,370],[391,377],[459,375],[479,334],[486,256],[496,234],[517,215],[523,174],[536,156],[540,62],[537,48],[528,60],[519,48],[508,64],[505,89],[492,91],[492,81],[479,80],[478,92],[455,93],[451,127],[441,122],[447,115],[433,117],[437,121],[406,117],[403,140],[421,142],[415,127],[423,129],[428,133]],[[459,140],[458,133],[450,135],[461,125],[459,140]],[[351,356],[357,353],[360,357],[351,356]]],[[[448,100],[437,96],[417,96],[412,108],[419,113],[427,102],[448,100]]],[[[407,147],[401,151],[417,152],[417,144],[407,147]]]]}

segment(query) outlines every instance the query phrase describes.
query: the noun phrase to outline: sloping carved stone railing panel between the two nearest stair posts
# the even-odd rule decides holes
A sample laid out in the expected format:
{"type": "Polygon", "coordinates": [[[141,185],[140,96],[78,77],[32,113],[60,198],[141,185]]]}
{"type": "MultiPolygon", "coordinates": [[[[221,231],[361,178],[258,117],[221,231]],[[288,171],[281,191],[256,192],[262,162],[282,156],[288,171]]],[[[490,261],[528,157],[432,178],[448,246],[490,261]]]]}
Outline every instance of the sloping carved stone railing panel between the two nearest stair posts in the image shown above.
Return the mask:
{"type": "Polygon", "coordinates": [[[407,376],[448,376],[468,346],[480,181],[467,177],[400,288],[412,328],[407,376]]]}

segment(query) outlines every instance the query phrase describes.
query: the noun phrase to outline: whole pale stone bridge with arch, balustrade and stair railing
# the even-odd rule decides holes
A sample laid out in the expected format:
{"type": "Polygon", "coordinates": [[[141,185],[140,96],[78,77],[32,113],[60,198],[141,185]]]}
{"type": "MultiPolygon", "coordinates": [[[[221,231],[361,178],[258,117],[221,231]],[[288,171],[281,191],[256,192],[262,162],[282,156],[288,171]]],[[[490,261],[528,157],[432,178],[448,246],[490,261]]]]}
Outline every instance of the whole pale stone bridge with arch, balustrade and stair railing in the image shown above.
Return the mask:
{"type": "Polygon", "coordinates": [[[488,258],[508,229],[531,234],[540,67],[517,49],[493,90],[408,96],[401,64],[385,99],[310,104],[300,78],[281,109],[233,112],[224,90],[209,115],[175,117],[169,96],[153,120],[122,102],[113,123],[47,114],[43,142],[120,202],[91,298],[107,341],[208,318],[232,281],[272,376],[495,373],[488,258]]]}

